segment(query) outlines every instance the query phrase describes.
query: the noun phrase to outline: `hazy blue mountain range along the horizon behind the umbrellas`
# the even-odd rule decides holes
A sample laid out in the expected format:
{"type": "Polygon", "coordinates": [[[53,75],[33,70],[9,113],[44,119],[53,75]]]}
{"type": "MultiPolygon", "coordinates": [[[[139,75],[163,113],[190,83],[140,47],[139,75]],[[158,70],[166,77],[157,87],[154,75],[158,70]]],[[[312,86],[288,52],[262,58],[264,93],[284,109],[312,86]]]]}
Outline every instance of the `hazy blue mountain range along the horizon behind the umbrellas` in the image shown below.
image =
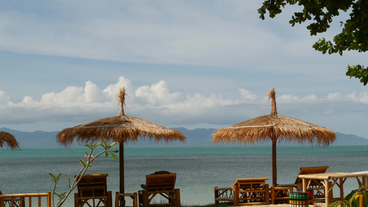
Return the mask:
{"type": "MultiPolygon", "coordinates": [[[[186,136],[186,142],[173,142],[171,144],[164,143],[152,143],[147,140],[139,140],[135,144],[128,143],[127,147],[210,147],[210,146],[222,146],[220,144],[213,144],[211,141],[211,135],[215,132],[214,128],[196,128],[193,130],[188,130],[186,128],[173,128],[182,132],[186,136]]],[[[12,130],[10,128],[0,128],[0,131],[10,132],[19,141],[21,148],[63,148],[59,146],[56,141],[56,135],[58,132],[21,132],[17,130],[12,130]]],[[[336,141],[331,144],[331,146],[336,145],[368,145],[368,139],[358,137],[356,135],[346,135],[340,132],[336,132],[336,141]]],[[[260,145],[260,144],[257,144],[260,145]]],[[[278,146],[294,145],[288,143],[281,143],[278,146]]],[[[83,146],[83,145],[82,145],[83,146]]],[[[72,147],[82,147],[78,144],[72,147]]],[[[232,146],[232,145],[226,145],[232,146]]],[[[237,146],[237,145],[235,145],[237,146]]],[[[262,146],[271,146],[271,141],[262,144],[262,146]]]]}

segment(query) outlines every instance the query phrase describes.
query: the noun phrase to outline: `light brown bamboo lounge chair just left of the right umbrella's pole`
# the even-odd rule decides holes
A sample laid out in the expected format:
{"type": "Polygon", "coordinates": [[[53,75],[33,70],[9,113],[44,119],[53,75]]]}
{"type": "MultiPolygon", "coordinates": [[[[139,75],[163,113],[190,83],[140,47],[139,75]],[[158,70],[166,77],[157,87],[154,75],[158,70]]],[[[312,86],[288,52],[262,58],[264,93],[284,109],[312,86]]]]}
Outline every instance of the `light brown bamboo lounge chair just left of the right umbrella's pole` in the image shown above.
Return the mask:
{"type": "Polygon", "coordinates": [[[267,177],[236,179],[233,185],[234,206],[269,205],[267,177]]]}

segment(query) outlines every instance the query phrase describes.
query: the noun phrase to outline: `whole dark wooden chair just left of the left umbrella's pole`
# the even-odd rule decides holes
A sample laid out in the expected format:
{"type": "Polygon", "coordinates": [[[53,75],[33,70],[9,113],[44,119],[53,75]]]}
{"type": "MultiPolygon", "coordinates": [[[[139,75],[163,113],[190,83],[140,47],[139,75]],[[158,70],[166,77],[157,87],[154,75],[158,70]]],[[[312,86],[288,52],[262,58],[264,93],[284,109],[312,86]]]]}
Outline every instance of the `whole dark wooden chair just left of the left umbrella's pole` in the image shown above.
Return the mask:
{"type": "Polygon", "coordinates": [[[75,207],[112,207],[112,193],[107,191],[107,176],[108,174],[83,175],[77,184],[78,193],[74,195],[75,207]]]}

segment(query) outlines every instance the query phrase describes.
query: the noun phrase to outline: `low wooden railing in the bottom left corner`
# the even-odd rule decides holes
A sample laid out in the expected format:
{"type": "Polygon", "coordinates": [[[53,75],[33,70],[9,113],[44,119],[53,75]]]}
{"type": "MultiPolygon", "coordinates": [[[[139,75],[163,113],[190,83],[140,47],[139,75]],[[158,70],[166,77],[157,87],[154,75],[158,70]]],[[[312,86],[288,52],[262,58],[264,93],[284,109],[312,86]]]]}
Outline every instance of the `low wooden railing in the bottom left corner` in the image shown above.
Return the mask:
{"type": "Polygon", "coordinates": [[[10,194],[0,195],[0,207],[25,207],[28,204],[32,207],[32,198],[38,197],[37,205],[41,207],[41,198],[46,197],[47,207],[51,207],[51,192],[47,193],[23,193],[23,194],[10,194]]]}

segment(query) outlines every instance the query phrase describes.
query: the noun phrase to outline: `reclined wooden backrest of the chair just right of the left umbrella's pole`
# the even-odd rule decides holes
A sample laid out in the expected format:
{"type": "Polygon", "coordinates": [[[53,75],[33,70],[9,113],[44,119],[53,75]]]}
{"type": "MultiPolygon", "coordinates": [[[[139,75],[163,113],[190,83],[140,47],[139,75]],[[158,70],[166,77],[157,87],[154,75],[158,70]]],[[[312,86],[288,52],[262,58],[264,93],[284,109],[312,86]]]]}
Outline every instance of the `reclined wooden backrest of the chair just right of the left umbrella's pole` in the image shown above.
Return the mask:
{"type": "Polygon", "coordinates": [[[176,173],[146,175],[146,190],[174,190],[176,173]]]}

